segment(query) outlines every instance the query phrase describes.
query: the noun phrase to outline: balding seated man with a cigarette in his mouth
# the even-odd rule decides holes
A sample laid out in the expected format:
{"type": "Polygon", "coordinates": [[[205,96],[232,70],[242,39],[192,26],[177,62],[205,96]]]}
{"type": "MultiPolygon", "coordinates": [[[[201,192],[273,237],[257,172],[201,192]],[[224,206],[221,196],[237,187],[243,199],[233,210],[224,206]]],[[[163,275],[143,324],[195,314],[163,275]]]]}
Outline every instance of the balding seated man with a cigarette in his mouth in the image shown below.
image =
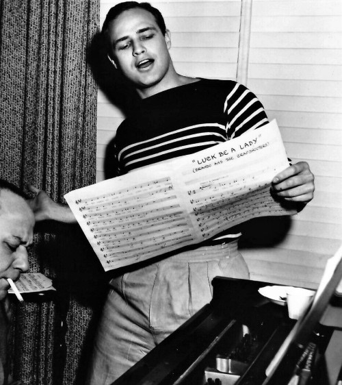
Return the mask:
{"type": "Polygon", "coordinates": [[[0,179],[0,385],[19,385],[8,374],[6,340],[8,278],[18,280],[29,269],[27,247],[33,242],[34,213],[16,186],[0,179]]]}

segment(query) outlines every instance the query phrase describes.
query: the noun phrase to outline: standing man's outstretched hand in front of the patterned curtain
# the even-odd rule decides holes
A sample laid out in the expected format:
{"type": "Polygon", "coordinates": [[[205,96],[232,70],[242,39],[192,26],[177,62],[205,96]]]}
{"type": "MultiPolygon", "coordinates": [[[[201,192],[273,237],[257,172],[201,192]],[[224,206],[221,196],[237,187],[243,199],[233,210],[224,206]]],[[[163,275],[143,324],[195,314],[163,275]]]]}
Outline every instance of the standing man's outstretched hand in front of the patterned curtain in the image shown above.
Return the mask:
{"type": "Polygon", "coordinates": [[[53,220],[63,223],[76,223],[73,212],[67,205],[56,203],[43,190],[35,186],[28,186],[35,197],[28,200],[29,206],[34,212],[36,222],[53,220]]]}

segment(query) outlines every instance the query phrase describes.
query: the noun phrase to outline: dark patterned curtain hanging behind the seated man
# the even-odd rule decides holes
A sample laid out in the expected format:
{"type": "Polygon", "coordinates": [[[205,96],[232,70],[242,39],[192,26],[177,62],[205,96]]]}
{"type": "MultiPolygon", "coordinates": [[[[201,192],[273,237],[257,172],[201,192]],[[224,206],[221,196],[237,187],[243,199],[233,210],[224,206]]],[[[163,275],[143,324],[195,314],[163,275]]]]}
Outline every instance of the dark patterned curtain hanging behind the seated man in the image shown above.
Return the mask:
{"type": "MultiPolygon", "coordinates": [[[[98,0],[0,1],[0,177],[58,202],[95,182],[98,0]]],[[[30,272],[57,291],[13,306],[12,369],[24,384],[82,384],[103,271],[77,225],[40,223],[30,272]],[[65,322],[66,321],[66,322],[65,322]]]]}

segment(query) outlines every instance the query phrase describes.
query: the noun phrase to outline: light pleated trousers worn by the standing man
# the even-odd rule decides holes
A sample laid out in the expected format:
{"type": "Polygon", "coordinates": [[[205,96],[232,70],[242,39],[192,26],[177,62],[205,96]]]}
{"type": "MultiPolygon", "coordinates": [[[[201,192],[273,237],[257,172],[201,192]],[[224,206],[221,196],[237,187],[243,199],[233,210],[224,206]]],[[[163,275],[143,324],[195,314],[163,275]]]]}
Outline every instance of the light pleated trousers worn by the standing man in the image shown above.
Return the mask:
{"type": "Polygon", "coordinates": [[[249,278],[237,240],[199,247],[111,280],[88,384],[108,385],[212,298],[215,276],[249,278]]]}

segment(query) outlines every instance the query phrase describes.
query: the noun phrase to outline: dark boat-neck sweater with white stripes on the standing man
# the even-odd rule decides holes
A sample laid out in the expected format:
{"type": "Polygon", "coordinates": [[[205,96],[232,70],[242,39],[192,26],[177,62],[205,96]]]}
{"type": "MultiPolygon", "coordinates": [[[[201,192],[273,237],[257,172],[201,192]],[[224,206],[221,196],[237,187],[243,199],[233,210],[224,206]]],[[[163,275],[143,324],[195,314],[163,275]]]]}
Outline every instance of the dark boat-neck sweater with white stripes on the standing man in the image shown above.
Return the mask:
{"type": "MultiPolygon", "coordinates": [[[[115,175],[218,145],[266,123],[257,97],[231,80],[200,79],[159,92],[142,99],[118,127],[115,175]]],[[[239,235],[235,226],[215,239],[239,235]]]]}

